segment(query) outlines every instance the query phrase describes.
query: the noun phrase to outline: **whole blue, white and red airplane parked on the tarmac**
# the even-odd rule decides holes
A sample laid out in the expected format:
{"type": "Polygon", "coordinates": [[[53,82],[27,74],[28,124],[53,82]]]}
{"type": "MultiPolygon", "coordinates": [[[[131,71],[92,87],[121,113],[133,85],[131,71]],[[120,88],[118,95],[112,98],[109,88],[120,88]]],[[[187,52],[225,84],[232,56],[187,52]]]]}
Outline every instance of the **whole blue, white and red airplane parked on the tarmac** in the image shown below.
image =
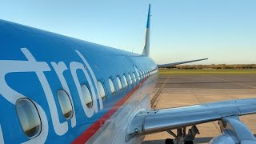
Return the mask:
{"type": "Polygon", "coordinates": [[[5,20],[0,40],[0,143],[141,143],[162,131],[193,143],[196,125],[213,121],[222,134],[210,143],[255,143],[239,120],[255,114],[255,98],[150,108],[159,67],[204,60],[157,65],[150,6],[142,54],[5,20]]]}

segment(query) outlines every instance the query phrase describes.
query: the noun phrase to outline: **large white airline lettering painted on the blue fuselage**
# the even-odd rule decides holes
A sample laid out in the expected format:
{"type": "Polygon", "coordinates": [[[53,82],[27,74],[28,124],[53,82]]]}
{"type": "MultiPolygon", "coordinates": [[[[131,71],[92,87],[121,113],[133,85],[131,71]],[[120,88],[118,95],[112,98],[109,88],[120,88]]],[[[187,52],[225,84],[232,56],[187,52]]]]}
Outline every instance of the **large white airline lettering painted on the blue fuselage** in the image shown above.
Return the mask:
{"type": "MultiPolygon", "coordinates": [[[[30,51],[26,48],[21,49],[23,54],[26,56],[28,61],[14,61],[14,60],[1,60],[0,61],[0,94],[6,98],[7,101],[11,102],[12,104],[15,105],[15,102],[19,98],[27,98],[23,94],[19,94],[16,90],[13,90],[10,88],[10,86],[7,84],[5,76],[6,74],[10,73],[16,73],[16,72],[34,72],[38,76],[38,80],[42,85],[42,89],[44,90],[44,93],[46,95],[46,100],[48,102],[49,108],[50,108],[50,117],[52,118],[53,126],[54,126],[54,131],[58,135],[63,135],[66,134],[68,131],[68,122],[60,122],[58,118],[58,110],[56,106],[56,102],[54,100],[54,94],[50,88],[50,84],[46,78],[46,75],[44,72],[46,71],[51,71],[50,66],[46,62],[37,62],[34,56],[30,53],[30,51]]],[[[94,75],[93,70],[90,68],[90,65],[88,62],[86,62],[86,58],[82,56],[82,54],[76,50],[76,53],[78,56],[82,59],[82,62],[86,65],[86,68],[88,68],[89,72],[85,69],[84,65],[80,62],[70,62],[70,71],[72,74],[72,77],[74,79],[75,86],[78,90],[79,98],[82,103],[82,108],[84,110],[84,113],[88,118],[92,117],[95,113],[98,112],[98,102],[99,102],[99,108],[102,110],[103,105],[102,105],[102,98],[100,98],[100,95],[98,94],[98,86],[97,86],[97,80],[94,75]],[[86,80],[89,83],[90,90],[92,92],[92,98],[93,98],[93,107],[88,109],[88,107],[85,104],[84,98],[82,96],[82,90],[81,90],[81,82],[79,82],[78,75],[77,75],[77,70],[82,70],[83,74],[86,76],[86,80]],[[91,78],[92,80],[91,80],[91,78]],[[98,98],[97,98],[98,95],[98,98]],[[98,99],[98,102],[97,102],[98,99]]],[[[74,109],[74,103],[72,99],[72,94],[70,94],[70,88],[67,85],[66,78],[63,75],[63,72],[65,70],[68,70],[66,64],[64,62],[50,62],[50,64],[54,67],[54,71],[58,75],[58,79],[62,84],[63,90],[66,90],[67,94],[70,95],[70,101],[72,102],[73,110],[74,109]]],[[[57,92],[55,92],[57,94],[57,92]]],[[[34,102],[34,101],[33,101],[34,102]]],[[[38,108],[38,112],[40,114],[40,117],[42,118],[42,132],[38,136],[44,136],[45,138],[41,138],[46,140],[47,134],[48,134],[48,121],[46,118],[45,111],[42,109],[41,106],[38,105],[37,102],[34,102],[35,105],[38,108]],[[45,117],[45,118],[44,118],[45,117]],[[46,129],[43,129],[43,125],[47,125],[46,129]],[[43,131],[45,130],[45,131],[43,131]]],[[[71,121],[71,126],[74,127],[76,126],[76,117],[75,117],[75,111],[73,118],[70,119],[71,121]]],[[[1,128],[1,127],[0,127],[1,128]]],[[[0,131],[1,132],[1,131],[0,131]]],[[[36,138],[34,138],[36,139],[36,138]]],[[[33,140],[33,139],[31,139],[33,140]]],[[[30,140],[30,141],[31,141],[30,140]]],[[[1,142],[1,135],[0,135],[0,142],[1,142]]]]}

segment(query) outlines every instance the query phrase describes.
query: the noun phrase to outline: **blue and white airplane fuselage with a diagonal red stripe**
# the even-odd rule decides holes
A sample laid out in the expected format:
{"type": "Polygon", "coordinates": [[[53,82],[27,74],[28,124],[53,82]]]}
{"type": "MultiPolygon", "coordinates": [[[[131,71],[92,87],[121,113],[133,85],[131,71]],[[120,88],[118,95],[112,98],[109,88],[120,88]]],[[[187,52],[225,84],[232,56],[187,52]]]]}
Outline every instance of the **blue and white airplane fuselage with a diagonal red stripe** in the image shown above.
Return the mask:
{"type": "Polygon", "coordinates": [[[2,20],[0,48],[0,143],[124,143],[130,118],[150,108],[158,67],[145,55],[2,20]],[[90,91],[90,107],[82,86],[90,91]],[[69,118],[63,115],[60,90],[70,100],[69,118]],[[39,131],[32,137],[24,130],[33,122],[22,125],[20,119],[33,117],[19,115],[22,99],[32,102],[39,116],[39,131]]]}

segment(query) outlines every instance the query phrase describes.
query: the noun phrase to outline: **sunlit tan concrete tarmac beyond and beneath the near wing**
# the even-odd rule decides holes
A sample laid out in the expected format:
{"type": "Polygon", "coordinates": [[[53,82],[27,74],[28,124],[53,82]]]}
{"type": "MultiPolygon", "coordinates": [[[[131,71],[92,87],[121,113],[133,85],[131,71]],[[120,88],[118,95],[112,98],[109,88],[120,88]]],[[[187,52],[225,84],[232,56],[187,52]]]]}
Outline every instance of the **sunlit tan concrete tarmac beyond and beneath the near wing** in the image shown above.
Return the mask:
{"type": "MultiPolygon", "coordinates": [[[[160,109],[241,98],[256,98],[256,74],[159,75],[151,104],[160,109]]],[[[256,114],[240,119],[256,134],[256,114]]],[[[194,143],[208,143],[221,134],[218,122],[200,124],[198,130],[194,143]]],[[[149,134],[143,144],[165,143],[166,138],[173,137],[167,132],[149,134]]]]}

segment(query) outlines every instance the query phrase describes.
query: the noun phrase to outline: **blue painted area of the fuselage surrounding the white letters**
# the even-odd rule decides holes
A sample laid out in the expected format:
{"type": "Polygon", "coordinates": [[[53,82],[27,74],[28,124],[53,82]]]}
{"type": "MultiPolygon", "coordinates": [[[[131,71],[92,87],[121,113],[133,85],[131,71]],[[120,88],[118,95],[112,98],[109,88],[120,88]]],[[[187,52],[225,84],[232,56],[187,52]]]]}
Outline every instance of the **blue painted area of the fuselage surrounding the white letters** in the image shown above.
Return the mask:
{"type": "MultiPolygon", "coordinates": [[[[52,92],[55,101],[54,105],[57,107],[58,123],[61,125],[67,122],[68,131],[63,129],[64,131],[60,130],[56,132],[55,129],[58,128],[54,129],[54,120],[51,117],[52,111],[50,110],[49,99],[46,98],[46,90],[43,89],[42,81],[40,81],[42,79],[38,77],[38,73],[33,72],[33,70],[26,71],[25,67],[23,71],[10,71],[3,77],[5,78],[6,84],[10,86],[11,89],[17,91],[17,94],[22,94],[36,102],[46,113],[46,120],[49,126],[49,130],[46,134],[46,142],[63,143],[64,140],[65,142],[74,141],[75,138],[97,121],[98,118],[101,118],[107,110],[114,106],[115,103],[122,99],[122,97],[129,93],[135,86],[129,86],[127,89],[117,91],[114,96],[111,96],[110,87],[106,85],[108,78],[114,78],[114,85],[117,87],[116,76],[119,76],[123,81],[122,75],[125,74],[127,76],[127,74],[132,74],[132,72],[134,72],[134,65],[137,66],[139,70],[154,70],[157,67],[152,59],[139,54],[97,45],[2,20],[0,21],[0,40],[0,63],[1,66],[7,66],[0,67],[0,71],[8,69],[8,65],[4,65],[5,63],[30,62],[30,59],[28,59],[29,56],[30,58],[32,57],[32,59],[34,58],[36,61],[35,64],[38,62],[39,65],[39,62],[42,62],[41,64],[49,67],[49,69],[43,71],[42,74],[46,77],[46,81],[50,86],[50,92],[52,92]],[[103,109],[100,109],[98,100],[98,112],[94,113],[91,118],[88,118],[82,109],[74,75],[72,75],[70,70],[71,63],[81,63],[86,67],[90,79],[86,78],[82,70],[76,70],[80,84],[89,86],[88,81],[90,80],[93,83],[92,89],[95,90],[95,94],[97,94],[97,86],[94,82],[93,74],[88,70],[89,67],[86,66],[86,63],[83,62],[78,53],[82,54],[82,57],[89,63],[97,80],[103,82],[107,93],[106,101],[103,102],[103,109]],[[70,97],[73,98],[76,118],[73,124],[71,124],[70,120],[66,120],[63,117],[58,103],[57,91],[62,90],[63,86],[58,78],[58,74],[56,74],[56,70],[54,70],[53,63],[59,64],[59,62],[61,62],[63,66],[66,66],[66,70],[63,71],[63,76],[70,89],[70,97]],[[59,136],[65,138],[58,138],[59,136]]],[[[33,67],[31,69],[33,69],[33,67]]],[[[34,67],[34,69],[36,68],[34,67]]],[[[29,141],[30,138],[26,137],[19,123],[14,102],[10,102],[8,99],[15,99],[14,97],[19,98],[20,95],[6,95],[3,91],[4,90],[0,88],[0,107],[2,112],[0,126],[2,128],[4,141],[6,143],[29,141]]]]}

